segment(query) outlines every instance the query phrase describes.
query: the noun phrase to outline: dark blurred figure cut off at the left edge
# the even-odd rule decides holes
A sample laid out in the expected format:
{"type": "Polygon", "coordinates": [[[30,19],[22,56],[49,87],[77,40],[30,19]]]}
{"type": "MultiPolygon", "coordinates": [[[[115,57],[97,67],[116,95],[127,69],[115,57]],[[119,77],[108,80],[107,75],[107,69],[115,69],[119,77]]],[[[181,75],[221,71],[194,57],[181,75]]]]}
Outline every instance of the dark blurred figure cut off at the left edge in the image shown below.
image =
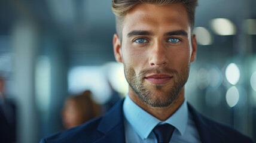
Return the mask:
{"type": "Polygon", "coordinates": [[[5,95],[5,80],[0,77],[0,142],[16,142],[16,105],[5,95]]]}

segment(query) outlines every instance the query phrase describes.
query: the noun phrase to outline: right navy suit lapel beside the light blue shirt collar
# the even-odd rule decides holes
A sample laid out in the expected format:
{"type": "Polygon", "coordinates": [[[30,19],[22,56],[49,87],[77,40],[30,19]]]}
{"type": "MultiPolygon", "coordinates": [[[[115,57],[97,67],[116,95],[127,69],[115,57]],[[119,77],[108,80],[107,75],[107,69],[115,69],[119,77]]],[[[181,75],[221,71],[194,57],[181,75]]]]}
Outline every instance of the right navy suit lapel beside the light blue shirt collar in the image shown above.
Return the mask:
{"type": "Polygon", "coordinates": [[[193,116],[194,123],[196,124],[197,131],[200,136],[200,140],[202,143],[208,142],[224,142],[223,136],[220,136],[217,133],[217,130],[213,130],[212,124],[209,120],[206,120],[200,113],[188,104],[188,110],[193,116]]]}

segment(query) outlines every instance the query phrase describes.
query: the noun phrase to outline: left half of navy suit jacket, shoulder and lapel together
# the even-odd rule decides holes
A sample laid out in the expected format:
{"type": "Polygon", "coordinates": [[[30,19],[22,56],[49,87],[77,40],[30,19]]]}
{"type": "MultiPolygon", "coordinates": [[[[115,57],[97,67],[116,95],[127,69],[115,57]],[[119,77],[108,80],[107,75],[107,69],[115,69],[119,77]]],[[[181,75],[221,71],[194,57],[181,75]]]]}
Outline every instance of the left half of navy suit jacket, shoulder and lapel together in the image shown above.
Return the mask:
{"type": "Polygon", "coordinates": [[[123,100],[117,102],[104,116],[48,136],[42,139],[41,143],[124,142],[122,106],[123,100]]]}

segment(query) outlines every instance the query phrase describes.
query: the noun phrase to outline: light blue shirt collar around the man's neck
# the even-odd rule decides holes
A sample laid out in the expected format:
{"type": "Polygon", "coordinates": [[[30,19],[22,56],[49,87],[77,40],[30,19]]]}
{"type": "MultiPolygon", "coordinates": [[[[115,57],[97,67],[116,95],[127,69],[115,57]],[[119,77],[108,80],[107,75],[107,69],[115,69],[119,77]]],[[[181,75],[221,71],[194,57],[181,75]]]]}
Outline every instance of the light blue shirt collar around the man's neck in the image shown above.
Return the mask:
{"type": "Polygon", "coordinates": [[[173,125],[176,129],[178,129],[181,135],[184,134],[187,127],[188,107],[186,100],[172,116],[163,122],[135,104],[135,102],[130,99],[129,95],[127,95],[124,99],[123,111],[124,117],[142,139],[148,138],[148,135],[150,135],[151,131],[159,123],[169,123],[170,125],[173,125]]]}

